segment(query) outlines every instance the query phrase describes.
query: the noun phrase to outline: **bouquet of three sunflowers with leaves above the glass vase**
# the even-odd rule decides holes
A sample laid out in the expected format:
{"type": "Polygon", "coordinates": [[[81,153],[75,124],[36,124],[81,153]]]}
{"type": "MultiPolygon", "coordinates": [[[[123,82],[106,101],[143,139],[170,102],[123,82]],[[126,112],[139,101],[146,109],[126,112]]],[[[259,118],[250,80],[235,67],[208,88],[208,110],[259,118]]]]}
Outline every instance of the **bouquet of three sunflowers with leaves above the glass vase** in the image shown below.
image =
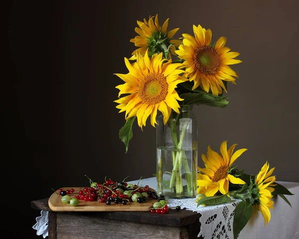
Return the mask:
{"type": "Polygon", "coordinates": [[[234,77],[238,77],[229,65],[242,62],[236,59],[238,52],[225,46],[225,37],[212,42],[212,31],[201,25],[193,25],[194,36],[185,33],[174,39],[179,28],[167,31],[168,19],[160,26],[155,15],[137,24],[139,35],[131,42],[138,48],[129,59],[125,57],[129,72],[116,73],[125,82],[116,86],[120,91],[115,102],[119,112],[126,112],[126,124],[120,130],[126,151],[136,118],[142,128],[150,116],[155,127],[157,111],[166,124],[171,111],[179,113],[180,105],[226,107],[223,92],[227,92],[227,82],[236,84],[234,77]]]}

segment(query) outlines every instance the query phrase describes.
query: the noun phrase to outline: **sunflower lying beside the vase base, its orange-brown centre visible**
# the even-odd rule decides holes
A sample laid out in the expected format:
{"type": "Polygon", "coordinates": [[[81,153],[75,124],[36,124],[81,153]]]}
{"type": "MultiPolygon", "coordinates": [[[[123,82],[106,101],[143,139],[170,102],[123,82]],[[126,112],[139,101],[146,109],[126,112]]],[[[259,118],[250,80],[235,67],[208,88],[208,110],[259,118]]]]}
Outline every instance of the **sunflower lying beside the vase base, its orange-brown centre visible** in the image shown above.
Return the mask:
{"type": "Polygon", "coordinates": [[[243,180],[235,178],[229,172],[230,166],[247,149],[239,149],[233,154],[237,144],[232,145],[227,150],[226,142],[223,141],[220,146],[222,157],[217,152],[211,150],[210,146],[208,146],[207,156],[204,154],[201,155],[206,168],[202,169],[198,167],[198,170],[204,174],[197,174],[197,194],[204,194],[207,197],[214,196],[218,191],[221,194],[227,194],[229,182],[233,184],[245,184],[243,180]]]}

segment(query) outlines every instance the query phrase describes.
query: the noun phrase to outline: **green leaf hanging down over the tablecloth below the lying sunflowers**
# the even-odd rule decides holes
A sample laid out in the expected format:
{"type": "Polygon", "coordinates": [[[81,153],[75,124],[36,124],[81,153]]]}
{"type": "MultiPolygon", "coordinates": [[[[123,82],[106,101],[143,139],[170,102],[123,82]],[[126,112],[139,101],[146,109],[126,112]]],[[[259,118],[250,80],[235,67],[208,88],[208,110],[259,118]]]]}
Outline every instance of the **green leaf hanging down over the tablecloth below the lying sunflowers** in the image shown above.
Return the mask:
{"type": "Polygon", "coordinates": [[[234,239],[237,239],[239,233],[246,226],[252,214],[252,204],[249,204],[246,201],[242,201],[237,205],[233,224],[234,239]]]}

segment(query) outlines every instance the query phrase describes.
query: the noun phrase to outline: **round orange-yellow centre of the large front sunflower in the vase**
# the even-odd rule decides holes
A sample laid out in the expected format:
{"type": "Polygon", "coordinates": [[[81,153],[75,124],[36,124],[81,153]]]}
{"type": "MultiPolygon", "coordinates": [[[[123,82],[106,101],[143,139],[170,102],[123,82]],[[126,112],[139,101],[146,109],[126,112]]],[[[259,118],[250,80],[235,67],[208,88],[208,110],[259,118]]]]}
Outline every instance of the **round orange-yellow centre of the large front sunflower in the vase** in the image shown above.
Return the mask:
{"type": "Polygon", "coordinates": [[[168,93],[166,77],[160,73],[149,73],[139,84],[139,96],[143,103],[155,105],[165,100],[168,93]]]}

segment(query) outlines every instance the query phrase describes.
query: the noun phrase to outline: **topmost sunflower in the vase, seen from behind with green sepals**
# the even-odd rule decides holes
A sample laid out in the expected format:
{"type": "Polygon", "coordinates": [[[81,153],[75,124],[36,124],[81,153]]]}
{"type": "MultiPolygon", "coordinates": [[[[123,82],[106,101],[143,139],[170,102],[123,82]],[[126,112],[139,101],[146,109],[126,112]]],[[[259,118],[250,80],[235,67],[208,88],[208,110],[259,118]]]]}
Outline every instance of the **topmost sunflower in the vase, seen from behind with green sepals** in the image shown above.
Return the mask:
{"type": "MultiPolygon", "coordinates": [[[[172,29],[167,32],[168,20],[163,23],[162,26],[159,25],[158,21],[158,14],[149,17],[149,21],[144,18],[144,22],[137,21],[139,27],[135,28],[135,31],[139,34],[135,36],[135,38],[131,39],[130,41],[135,43],[135,46],[140,47],[137,50],[133,51],[132,57],[129,60],[135,60],[137,51],[145,55],[147,49],[149,49],[149,53],[153,54],[154,52],[167,52],[169,50],[173,50],[173,46],[170,44],[175,45],[176,47],[181,43],[181,40],[172,39],[173,35],[177,32],[179,28],[172,29]]],[[[175,54],[174,51],[172,51],[175,54]]]]}

